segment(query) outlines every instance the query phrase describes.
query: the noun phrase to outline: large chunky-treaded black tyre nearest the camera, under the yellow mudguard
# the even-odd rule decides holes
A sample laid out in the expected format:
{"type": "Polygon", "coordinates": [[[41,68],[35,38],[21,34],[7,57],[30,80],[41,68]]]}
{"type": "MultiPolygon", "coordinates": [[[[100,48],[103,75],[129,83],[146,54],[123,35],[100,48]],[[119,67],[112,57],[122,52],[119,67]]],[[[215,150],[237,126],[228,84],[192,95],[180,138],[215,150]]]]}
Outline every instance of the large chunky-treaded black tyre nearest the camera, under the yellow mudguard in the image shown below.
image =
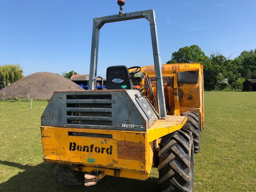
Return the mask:
{"type": "Polygon", "coordinates": [[[194,185],[194,148],[192,133],[178,130],[163,137],[160,143],[160,192],[192,192],[194,185]]]}

